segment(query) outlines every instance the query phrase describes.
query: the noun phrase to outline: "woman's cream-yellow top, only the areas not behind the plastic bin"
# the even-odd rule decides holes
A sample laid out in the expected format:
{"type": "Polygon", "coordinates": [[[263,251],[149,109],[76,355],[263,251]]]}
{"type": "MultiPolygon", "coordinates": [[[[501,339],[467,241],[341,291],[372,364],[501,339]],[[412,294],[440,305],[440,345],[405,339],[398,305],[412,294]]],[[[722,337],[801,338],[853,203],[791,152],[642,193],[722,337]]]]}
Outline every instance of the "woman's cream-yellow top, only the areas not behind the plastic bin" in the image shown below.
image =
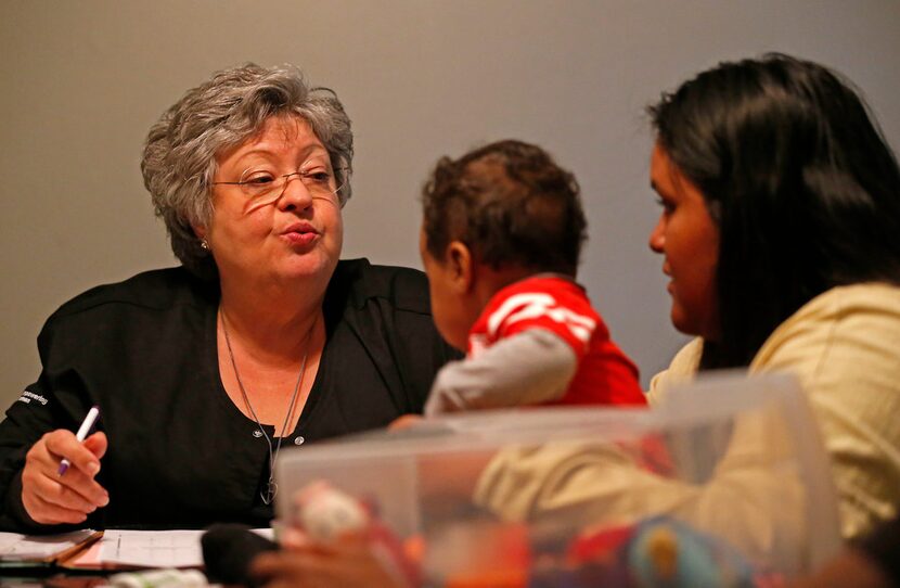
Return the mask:
{"type": "MultiPolygon", "coordinates": [[[[654,376],[652,404],[696,373],[702,350],[692,341],[654,376]]],[[[845,538],[900,511],[900,287],[856,284],[817,296],[775,329],[749,370],[800,379],[831,457],[845,538]]]]}

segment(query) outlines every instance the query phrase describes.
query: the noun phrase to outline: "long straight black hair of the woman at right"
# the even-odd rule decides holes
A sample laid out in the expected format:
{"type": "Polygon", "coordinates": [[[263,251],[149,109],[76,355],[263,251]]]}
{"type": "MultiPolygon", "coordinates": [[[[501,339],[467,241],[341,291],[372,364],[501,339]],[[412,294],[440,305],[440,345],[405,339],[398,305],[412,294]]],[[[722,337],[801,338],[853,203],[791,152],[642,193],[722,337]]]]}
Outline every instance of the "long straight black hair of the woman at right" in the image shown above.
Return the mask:
{"type": "Polygon", "coordinates": [[[833,286],[900,283],[900,170],[839,75],[783,54],[722,63],[648,111],[719,227],[721,336],[702,369],[749,365],[833,286]]]}

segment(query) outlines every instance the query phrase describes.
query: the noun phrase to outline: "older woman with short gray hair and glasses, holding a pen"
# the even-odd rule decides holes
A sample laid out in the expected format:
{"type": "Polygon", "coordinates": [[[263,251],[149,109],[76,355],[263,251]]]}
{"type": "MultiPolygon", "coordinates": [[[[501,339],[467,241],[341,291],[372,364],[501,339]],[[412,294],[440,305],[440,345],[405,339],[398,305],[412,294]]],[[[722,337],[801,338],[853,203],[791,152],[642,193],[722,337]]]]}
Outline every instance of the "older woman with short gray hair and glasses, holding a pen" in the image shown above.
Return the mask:
{"type": "Polygon", "coordinates": [[[163,114],[141,168],[182,267],[47,321],[0,424],[2,526],[267,525],[283,447],[421,411],[454,353],[421,272],[338,260],[352,153],[293,67],[218,73],[163,114]]]}

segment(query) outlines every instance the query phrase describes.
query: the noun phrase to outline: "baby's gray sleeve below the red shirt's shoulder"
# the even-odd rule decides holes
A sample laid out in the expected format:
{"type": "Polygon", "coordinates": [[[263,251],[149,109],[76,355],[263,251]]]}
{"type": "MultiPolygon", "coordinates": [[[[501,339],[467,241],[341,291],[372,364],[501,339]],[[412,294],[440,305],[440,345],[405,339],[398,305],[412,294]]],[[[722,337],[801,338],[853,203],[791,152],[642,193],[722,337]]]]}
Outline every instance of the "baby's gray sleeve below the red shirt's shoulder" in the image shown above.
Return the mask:
{"type": "Polygon", "coordinates": [[[524,331],[477,358],[445,366],[432,385],[425,416],[555,400],[568,387],[577,363],[562,337],[544,329],[524,331]]]}

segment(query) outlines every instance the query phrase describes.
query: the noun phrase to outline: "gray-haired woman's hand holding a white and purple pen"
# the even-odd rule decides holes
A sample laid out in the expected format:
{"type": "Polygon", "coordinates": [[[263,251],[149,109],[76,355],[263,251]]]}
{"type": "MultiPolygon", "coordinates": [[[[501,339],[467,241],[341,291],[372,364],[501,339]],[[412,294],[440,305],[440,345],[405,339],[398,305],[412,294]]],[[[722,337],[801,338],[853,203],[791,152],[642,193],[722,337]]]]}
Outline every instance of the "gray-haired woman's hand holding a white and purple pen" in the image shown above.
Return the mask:
{"type": "Polygon", "coordinates": [[[51,431],[28,450],[22,471],[22,506],[36,523],[79,524],[108,504],[108,493],[94,480],[106,452],[106,435],[88,435],[98,413],[97,407],[91,408],[77,433],[51,431]]]}

